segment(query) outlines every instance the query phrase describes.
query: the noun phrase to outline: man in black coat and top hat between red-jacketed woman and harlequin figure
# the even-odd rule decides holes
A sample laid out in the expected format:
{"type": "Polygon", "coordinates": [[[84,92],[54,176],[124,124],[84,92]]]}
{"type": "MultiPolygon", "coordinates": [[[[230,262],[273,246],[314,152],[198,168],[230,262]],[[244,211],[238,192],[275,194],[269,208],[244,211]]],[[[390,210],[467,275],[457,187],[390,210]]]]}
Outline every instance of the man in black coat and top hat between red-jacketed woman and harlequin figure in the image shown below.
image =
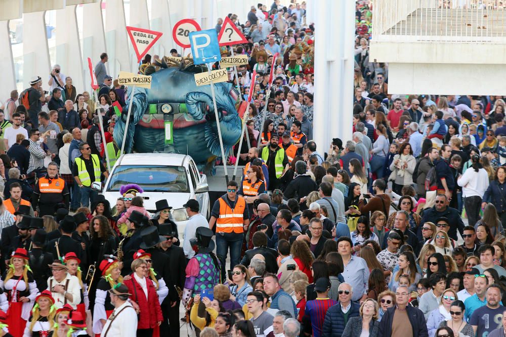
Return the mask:
{"type": "Polygon", "coordinates": [[[186,258],[183,248],[174,245],[174,238],[176,236],[176,227],[173,224],[162,224],[158,226],[160,234],[165,239],[160,243],[161,252],[168,256],[168,266],[170,270],[170,281],[166,281],[168,289],[168,296],[161,304],[163,314],[163,323],[160,325],[160,335],[179,336],[179,305],[181,300],[176,291],[176,287],[181,290],[184,288],[186,279],[186,258]],[[163,331],[168,332],[169,329],[163,325],[168,322],[170,324],[170,334],[164,334],[163,331]]]}

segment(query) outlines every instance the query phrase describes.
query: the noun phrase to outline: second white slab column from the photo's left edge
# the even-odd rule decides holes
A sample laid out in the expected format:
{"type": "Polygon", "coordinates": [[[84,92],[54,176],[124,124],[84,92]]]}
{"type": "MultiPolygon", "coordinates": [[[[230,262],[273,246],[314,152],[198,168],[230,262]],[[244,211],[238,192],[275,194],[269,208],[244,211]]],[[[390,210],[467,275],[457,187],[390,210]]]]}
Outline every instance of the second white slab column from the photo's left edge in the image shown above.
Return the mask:
{"type": "Polygon", "coordinates": [[[40,76],[44,87],[51,72],[48,36],[46,34],[46,12],[23,14],[23,87],[30,85],[30,78],[40,76]]]}

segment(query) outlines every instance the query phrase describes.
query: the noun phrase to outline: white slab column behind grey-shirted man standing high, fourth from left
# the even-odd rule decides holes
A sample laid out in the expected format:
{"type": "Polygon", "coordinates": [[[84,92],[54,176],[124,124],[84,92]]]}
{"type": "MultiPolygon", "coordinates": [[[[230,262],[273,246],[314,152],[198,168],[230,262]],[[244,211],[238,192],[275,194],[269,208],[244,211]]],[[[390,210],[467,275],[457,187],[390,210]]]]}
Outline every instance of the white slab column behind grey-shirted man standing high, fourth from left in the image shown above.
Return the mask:
{"type": "MultiPolygon", "coordinates": [[[[101,1],[82,6],[82,23],[82,67],[85,74],[85,88],[89,91],[91,90],[92,81],[88,68],[88,58],[92,59],[95,68],[97,62],[100,61],[100,54],[107,52],[101,1]]],[[[105,64],[108,70],[109,63],[112,63],[112,61],[105,64]]]]}

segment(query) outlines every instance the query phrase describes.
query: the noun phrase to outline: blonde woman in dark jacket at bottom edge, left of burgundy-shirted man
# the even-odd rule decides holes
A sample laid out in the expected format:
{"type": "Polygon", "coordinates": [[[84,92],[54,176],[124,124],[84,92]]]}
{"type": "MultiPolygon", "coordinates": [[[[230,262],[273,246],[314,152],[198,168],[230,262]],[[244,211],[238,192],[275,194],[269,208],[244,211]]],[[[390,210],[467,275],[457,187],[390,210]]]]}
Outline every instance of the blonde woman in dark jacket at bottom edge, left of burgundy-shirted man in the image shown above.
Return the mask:
{"type": "Polygon", "coordinates": [[[373,299],[365,300],[359,309],[360,316],[350,317],[343,331],[343,336],[364,337],[377,336],[379,333],[379,307],[373,299]]]}

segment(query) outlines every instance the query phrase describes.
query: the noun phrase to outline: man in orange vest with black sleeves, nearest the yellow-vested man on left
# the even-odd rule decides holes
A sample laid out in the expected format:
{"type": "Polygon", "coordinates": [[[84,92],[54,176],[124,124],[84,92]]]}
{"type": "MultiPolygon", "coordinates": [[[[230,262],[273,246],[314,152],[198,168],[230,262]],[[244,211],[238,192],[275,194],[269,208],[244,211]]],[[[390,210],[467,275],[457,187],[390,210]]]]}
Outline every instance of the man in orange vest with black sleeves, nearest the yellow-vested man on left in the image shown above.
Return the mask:
{"type": "Polygon", "coordinates": [[[56,205],[64,203],[68,209],[70,192],[67,184],[58,176],[58,164],[51,162],[48,165],[48,174],[38,179],[32,194],[32,205],[35,216],[54,216],[56,205]]]}

